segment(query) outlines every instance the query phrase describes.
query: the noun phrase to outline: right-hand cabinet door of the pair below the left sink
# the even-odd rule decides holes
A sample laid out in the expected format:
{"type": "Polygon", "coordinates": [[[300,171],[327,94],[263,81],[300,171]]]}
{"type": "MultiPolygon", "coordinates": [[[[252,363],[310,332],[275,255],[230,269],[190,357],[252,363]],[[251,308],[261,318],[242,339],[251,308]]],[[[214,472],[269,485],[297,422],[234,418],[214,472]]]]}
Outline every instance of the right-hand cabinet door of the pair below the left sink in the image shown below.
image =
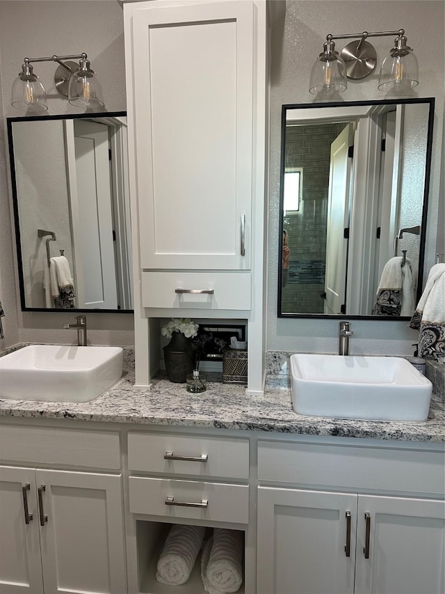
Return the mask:
{"type": "Polygon", "coordinates": [[[40,469],[35,475],[45,594],[127,591],[121,476],[40,469]]]}

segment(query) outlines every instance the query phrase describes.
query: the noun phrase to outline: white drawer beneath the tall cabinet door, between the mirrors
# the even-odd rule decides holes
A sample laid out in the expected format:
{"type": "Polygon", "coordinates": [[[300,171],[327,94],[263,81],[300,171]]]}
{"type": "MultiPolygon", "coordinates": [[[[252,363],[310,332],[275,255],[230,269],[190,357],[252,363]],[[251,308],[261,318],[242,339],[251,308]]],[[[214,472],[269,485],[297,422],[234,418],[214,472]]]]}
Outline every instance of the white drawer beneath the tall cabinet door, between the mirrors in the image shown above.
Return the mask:
{"type": "Polygon", "coordinates": [[[143,272],[142,304],[157,308],[249,311],[250,272],[143,272]],[[196,290],[211,293],[186,292],[196,290]]]}

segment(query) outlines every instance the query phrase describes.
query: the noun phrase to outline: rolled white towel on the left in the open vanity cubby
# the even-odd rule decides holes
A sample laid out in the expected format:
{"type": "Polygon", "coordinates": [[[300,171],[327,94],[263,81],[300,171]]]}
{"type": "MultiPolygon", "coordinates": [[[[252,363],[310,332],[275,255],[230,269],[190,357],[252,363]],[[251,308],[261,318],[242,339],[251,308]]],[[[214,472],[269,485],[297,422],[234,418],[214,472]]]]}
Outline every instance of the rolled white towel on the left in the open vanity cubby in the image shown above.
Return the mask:
{"type": "Polygon", "coordinates": [[[156,567],[156,580],[160,584],[185,584],[200,552],[204,533],[204,526],[172,525],[156,567]]]}

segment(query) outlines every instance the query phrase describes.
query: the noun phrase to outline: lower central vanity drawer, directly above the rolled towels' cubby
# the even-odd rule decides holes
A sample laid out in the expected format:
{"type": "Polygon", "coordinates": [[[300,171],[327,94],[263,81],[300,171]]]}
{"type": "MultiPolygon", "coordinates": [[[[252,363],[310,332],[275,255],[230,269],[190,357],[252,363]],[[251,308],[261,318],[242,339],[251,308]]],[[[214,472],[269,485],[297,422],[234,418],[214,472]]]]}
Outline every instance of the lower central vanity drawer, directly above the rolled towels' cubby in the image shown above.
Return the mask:
{"type": "Polygon", "coordinates": [[[129,506],[131,513],[248,524],[249,487],[130,476],[129,506]]]}

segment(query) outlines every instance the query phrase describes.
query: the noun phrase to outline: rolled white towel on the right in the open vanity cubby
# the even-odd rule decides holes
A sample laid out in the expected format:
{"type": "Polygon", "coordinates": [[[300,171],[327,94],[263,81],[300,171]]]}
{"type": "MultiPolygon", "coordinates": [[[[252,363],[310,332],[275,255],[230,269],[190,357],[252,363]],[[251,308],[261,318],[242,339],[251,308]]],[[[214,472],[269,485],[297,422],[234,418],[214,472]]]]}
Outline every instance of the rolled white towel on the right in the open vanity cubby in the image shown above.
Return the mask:
{"type": "Polygon", "coordinates": [[[243,533],[216,528],[202,552],[201,577],[209,594],[237,592],[243,583],[243,533]]]}

